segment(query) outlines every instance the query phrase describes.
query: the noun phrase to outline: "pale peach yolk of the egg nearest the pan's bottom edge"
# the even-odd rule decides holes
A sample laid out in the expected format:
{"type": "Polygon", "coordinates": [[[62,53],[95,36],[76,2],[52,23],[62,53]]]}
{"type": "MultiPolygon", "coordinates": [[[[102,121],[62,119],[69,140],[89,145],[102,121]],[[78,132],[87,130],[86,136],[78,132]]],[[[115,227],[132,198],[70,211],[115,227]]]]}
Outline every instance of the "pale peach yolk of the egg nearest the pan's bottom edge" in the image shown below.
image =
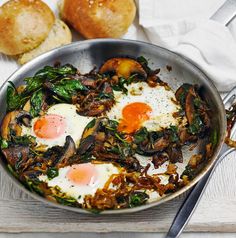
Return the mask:
{"type": "Polygon", "coordinates": [[[66,177],[76,185],[91,185],[98,179],[98,174],[93,164],[72,165],[66,177]]]}

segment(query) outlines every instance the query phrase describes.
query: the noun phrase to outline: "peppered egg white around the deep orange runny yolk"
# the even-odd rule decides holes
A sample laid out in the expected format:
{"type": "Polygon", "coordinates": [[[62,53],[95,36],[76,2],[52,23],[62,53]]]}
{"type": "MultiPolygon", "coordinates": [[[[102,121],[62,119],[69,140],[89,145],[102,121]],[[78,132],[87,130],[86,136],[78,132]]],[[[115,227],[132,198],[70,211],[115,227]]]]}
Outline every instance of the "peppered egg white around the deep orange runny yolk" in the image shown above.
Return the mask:
{"type": "Polygon", "coordinates": [[[158,131],[168,128],[170,125],[180,124],[181,120],[173,116],[173,113],[180,110],[180,105],[174,102],[176,99],[172,90],[161,85],[149,87],[145,82],[132,83],[126,88],[127,94],[114,92],[116,104],[107,113],[109,119],[119,122],[122,119],[122,110],[125,106],[130,103],[142,102],[152,108],[150,118],[142,124],[148,131],[158,131]]]}

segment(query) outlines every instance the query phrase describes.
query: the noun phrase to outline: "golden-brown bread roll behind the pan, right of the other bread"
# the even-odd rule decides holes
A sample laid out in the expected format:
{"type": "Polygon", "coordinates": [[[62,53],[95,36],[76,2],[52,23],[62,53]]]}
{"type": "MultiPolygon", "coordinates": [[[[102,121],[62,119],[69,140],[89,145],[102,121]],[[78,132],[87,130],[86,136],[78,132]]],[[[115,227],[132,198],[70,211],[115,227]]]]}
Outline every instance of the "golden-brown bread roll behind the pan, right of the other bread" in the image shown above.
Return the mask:
{"type": "Polygon", "coordinates": [[[118,38],[134,20],[133,0],[64,0],[61,16],[85,38],[118,38]]]}

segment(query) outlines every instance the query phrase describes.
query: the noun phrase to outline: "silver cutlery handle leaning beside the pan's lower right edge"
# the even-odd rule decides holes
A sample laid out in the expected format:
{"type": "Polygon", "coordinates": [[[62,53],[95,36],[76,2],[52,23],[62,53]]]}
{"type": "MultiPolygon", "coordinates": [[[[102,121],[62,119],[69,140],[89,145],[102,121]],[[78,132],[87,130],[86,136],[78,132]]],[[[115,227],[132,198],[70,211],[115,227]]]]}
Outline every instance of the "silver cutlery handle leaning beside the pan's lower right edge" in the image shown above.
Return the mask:
{"type": "MultiPolygon", "coordinates": [[[[226,145],[224,145],[226,146],[226,145]]],[[[204,177],[192,188],[192,190],[188,193],[187,197],[185,198],[182,206],[180,207],[178,213],[176,214],[174,221],[166,235],[166,238],[175,238],[179,237],[182,230],[188,223],[190,217],[192,216],[193,212],[195,211],[200,198],[202,197],[216,167],[218,164],[235,148],[228,149],[225,147],[225,153],[220,156],[220,158],[216,161],[213,167],[204,175],[204,177]]]]}

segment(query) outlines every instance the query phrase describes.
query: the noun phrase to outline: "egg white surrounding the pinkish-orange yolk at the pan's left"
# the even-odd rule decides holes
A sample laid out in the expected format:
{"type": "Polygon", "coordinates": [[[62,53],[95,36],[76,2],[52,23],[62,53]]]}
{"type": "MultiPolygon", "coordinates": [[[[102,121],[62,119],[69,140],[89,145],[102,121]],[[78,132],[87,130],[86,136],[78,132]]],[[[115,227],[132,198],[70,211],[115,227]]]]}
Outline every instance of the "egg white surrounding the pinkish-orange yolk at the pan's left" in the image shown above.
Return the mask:
{"type": "Polygon", "coordinates": [[[63,146],[65,144],[66,136],[70,135],[76,146],[79,145],[81,136],[83,134],[86,125],[93,120],[92,117],[80,116],[76,112],[76,106],[72,104],[60,103],[50,107],[46,114],[56,114],[62,116],[66,120],[66,131],[64,134],[54,139],[43,139],[37,137],[34,133],[34,123],[39,119],[35,117],[32,119],[31,127],[22,126],[21,135],[30,135],[36,138],[37,145],[46,145],[48,148],[59,145],[63,146]]]}

